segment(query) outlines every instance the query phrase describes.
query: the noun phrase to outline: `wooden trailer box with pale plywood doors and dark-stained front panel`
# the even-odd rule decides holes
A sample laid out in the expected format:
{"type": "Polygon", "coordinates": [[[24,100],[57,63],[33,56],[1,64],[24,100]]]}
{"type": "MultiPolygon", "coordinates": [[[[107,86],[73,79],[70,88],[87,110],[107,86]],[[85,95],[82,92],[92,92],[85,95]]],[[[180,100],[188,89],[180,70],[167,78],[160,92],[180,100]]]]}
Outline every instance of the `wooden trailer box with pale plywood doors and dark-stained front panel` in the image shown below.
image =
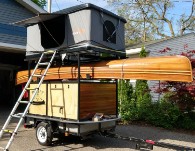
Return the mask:
{"type": "MultiPolygon", "coordinates": [[[[31,84],[35,88],[37,84],[31,84]]],[[[45,82],[41,85],[29,114],[88,120],[96,113],[117,116],[116,82],[45,82]]],[[[30,91],[32,97],[33,91],[30,91]]]]}

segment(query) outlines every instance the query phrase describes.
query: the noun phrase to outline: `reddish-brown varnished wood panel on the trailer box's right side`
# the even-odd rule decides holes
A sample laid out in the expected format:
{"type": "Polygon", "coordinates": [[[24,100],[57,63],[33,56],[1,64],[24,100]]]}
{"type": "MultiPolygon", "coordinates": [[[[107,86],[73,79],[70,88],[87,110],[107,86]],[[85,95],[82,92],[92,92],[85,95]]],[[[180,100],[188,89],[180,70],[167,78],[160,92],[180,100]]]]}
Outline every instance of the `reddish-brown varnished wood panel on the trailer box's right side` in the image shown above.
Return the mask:
{"type": "Polygon", "coordinates": [[[80,84],[80,119],[95,113],[116,115],[116,102],[116,84],[80,84]]]}

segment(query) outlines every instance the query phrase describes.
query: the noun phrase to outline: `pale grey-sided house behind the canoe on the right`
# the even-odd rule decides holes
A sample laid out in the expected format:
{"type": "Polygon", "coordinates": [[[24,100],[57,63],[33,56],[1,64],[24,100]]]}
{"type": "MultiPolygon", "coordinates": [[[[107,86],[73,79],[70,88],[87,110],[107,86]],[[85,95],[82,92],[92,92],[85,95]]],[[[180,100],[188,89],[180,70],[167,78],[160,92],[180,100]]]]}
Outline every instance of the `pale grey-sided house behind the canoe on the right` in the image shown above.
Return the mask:
{"type": "MultiPolygon", "coordinates": [[[[195,33],[182,36],[146,42],[127,48],[126,53],[130,58],[139,57],[141,47],[145,46],[148,56],[180,55],[187,51],[195,50],[195,33]]],[[[160,81],[148,81],[150,88],[158,86],[160,81]]],[[[159,100],[159,93],[151,92],[153,100],[159,100]]]]}

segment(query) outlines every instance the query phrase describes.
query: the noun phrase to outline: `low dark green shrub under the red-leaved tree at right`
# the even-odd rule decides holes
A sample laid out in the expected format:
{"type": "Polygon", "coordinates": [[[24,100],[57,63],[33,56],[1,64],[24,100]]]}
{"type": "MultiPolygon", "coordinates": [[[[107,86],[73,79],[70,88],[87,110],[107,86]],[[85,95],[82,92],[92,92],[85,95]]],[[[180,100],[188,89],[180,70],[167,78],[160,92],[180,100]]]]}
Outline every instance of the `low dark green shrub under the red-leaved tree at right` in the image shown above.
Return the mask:
{"type": "Polygon", "coordinates": [[[166,95],[160,102],[151,104],[145,120],[155,126],[168,129],[195,130],[195,113],[183,113],[176,104],[168,100],[166,95]]]}

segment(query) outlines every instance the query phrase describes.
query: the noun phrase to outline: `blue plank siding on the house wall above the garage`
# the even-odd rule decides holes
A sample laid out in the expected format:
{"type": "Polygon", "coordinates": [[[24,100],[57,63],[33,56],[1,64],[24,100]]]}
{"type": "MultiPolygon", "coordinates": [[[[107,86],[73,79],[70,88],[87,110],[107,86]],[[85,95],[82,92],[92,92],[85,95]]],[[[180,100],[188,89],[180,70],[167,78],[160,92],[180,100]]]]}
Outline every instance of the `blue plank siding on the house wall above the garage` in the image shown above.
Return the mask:
{"type": "Polygon", "coordinates": [[[0,0],[0,42],[26,45],[26,28],[12,23],[35,16],[15,0],[0,0]]]}

